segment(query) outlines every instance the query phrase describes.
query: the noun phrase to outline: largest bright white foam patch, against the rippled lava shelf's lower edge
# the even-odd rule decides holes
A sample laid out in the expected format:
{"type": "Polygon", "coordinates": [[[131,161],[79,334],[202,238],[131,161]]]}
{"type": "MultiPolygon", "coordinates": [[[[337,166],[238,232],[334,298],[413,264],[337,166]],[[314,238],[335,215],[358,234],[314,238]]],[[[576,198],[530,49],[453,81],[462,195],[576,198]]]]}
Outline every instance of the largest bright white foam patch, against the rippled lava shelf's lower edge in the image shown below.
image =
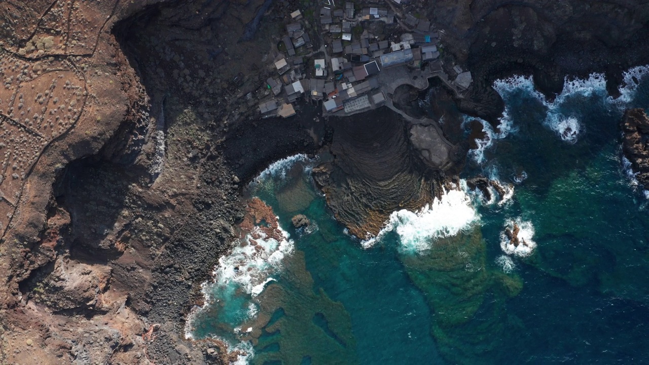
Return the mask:
{"type": "Polygon", "coordinates": [[[472,205],[471,197],[463,190],[445,191],[441,199],[431,205],[411,212],[402,209],[390,214],[386,226],[374,237],[361,242],[363,247],[372,247],[387,233],[394,231],[400,240],[400,250],[422,252],[430,248],[437,238],[455,236],[469,229],[480,216],[472,205]]]}

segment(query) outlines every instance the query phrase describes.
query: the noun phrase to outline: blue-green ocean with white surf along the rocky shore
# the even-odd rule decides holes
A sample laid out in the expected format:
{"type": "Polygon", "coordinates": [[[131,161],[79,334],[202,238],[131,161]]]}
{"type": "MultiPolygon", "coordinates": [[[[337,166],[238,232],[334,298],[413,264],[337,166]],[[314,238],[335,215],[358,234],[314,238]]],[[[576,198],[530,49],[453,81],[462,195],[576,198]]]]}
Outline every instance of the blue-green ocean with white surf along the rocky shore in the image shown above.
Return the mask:
{"type": "Polygon", "coordinates": [[[461,178],[512,186],[506,199],[462,180],[375,238],[326,208],[317,158],[275,162],[247,194],[281,237],[252,234],[221,258],[187,336],[219,338],[238,364],[649,363],[649,194],[618,127],[649,105],[648,73],[630,69],[617,99],[597,74],[554,101],[530,77],[496,81],[501,127],[478,120],[486,136],[461,178]],[[294,229],[296,214],[311,225],[294,229]],[[508,244],[514,222],[526,245],[508,244]]]}

